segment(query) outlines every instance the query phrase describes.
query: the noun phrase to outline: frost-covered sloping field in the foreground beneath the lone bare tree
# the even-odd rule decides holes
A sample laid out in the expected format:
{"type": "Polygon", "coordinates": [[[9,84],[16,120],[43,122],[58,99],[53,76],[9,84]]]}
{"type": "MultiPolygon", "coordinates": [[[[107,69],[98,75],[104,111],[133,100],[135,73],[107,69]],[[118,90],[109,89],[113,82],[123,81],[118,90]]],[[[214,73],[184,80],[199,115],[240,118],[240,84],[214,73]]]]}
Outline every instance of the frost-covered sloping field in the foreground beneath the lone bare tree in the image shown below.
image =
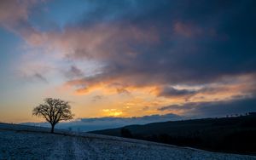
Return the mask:
{"type": "Polygon", "coordinates": [[[143,140],[0,123],[0,159],[256,159],[143,140]]]}

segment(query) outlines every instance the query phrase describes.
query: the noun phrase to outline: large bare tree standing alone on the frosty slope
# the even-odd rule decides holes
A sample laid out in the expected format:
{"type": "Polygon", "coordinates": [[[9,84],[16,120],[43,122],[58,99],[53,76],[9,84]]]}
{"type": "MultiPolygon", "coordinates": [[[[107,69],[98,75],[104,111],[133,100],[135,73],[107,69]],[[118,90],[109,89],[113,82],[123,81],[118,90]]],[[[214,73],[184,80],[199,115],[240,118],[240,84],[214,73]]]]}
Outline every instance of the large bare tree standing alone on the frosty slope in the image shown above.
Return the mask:
{"type": "Polygon", "coordinates": [[[32,115],[44,117],[51,125],[50,133],[54,133],[56,123],[73,119],[74,115],[70,109],[71,106],[68,101],[47,98],[44,100],[44,104],[40,104],[33,109],[32,115]]]}

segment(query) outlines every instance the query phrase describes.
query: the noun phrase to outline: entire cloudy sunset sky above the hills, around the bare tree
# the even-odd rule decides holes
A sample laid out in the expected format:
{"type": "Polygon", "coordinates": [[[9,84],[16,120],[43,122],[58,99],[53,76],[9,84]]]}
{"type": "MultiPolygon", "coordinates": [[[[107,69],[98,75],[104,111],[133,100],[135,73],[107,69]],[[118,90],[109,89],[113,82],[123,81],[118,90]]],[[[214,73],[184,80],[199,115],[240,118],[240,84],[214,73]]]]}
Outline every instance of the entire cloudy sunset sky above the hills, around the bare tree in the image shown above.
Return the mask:
{"type": "Polygon", "coordinates": [[[1,0],[0,122],[44,122],[48,97],[80,121],[256,111],[255,5],[1,0]]]}

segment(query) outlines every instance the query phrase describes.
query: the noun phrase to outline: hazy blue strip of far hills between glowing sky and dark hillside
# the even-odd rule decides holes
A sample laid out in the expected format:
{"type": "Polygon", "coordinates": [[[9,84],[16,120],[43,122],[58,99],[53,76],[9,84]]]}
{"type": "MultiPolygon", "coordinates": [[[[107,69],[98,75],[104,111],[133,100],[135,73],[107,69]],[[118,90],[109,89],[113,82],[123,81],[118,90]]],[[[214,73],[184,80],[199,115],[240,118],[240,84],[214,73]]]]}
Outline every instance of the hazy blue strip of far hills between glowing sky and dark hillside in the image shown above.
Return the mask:
{"type": "MultiPolygon", "coordinates": [[[[255,112],[248,112],[243,114],[232,114],[221,117],[181,117],[172,113],[166,115],[151,115],[144,117],[94,117],[94,118],[77,118],[69,122],[60,122],[55,126],[55,129],[67,129],[78,132],[90,132],[104,129],[117,129],[131,125],[147,125],[150,123],[166,123],[166,122],[183,122],[193,120],[206,120],[206,119],[222,119],[222,118],[236,118],[252,116],[255,112]]],[[[50,128],[47,122],[26,122],[17,123],[21,125],[28,125],[34,127],[50,128]]]]}

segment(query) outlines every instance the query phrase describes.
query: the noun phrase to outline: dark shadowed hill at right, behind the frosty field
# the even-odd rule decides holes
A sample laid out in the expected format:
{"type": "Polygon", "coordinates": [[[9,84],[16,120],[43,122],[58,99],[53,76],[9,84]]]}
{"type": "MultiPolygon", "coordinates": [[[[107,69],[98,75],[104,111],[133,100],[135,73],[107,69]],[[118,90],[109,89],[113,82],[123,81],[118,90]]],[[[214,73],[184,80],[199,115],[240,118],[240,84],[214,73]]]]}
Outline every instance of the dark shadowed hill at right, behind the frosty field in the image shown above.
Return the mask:
{"type": "Polygon", "coordinates": [[[204,118],[92,131],[210,151],[256,154],[256,114],[241,117],[204,118]],[[128,133],[128,134],[127,134],[128,133]]]}

